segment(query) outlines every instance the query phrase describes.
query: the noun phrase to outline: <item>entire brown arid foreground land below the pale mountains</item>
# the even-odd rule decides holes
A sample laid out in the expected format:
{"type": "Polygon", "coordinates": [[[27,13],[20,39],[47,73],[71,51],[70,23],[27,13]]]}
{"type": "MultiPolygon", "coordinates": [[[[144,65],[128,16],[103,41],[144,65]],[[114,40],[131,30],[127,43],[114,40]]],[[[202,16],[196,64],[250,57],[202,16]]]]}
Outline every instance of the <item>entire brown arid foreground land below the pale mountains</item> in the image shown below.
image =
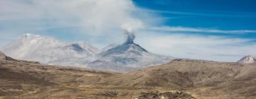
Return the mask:
{"type": "Polygon", "coordinates": [[[255,64],[174,59],[121,74],[0,54],[0,98],[256,98],[255,64]]]}

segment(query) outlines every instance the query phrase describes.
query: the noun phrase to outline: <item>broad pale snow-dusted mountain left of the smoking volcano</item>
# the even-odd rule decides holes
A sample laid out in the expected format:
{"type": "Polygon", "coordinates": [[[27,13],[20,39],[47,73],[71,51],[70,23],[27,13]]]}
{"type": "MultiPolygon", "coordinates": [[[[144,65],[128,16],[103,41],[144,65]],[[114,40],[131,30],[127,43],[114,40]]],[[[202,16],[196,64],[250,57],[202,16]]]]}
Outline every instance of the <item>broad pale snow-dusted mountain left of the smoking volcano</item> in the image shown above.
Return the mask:
{"type": "Polygon", "coordinates": [[[25,34],[6,45],[2,52],[16,59],[58,64],[93,57],[98,50],[86,42],[60,42],[53,37],[25,34]]]}

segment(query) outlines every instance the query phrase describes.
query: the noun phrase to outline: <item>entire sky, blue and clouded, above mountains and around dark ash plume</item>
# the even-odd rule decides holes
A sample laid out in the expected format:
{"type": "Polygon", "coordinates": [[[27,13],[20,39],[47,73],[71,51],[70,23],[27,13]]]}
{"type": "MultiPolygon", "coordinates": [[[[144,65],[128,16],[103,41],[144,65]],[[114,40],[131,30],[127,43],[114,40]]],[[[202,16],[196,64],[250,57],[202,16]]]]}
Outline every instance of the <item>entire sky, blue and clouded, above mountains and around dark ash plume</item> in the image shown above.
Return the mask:
{"type": "Polygon", "coordinates": [[[135,42],[156,54],[235,62],[256,56],[254,0],[0,0],[0,47],[25,33],[96,47],[135,42]]]}

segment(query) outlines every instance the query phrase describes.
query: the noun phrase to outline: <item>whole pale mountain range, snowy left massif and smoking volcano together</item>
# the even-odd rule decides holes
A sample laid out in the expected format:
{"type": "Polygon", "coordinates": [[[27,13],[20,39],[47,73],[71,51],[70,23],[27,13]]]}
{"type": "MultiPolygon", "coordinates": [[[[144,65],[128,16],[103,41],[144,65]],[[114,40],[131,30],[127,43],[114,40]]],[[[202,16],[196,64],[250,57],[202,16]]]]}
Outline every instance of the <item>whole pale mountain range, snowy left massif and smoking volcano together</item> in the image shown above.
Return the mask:
{"type": "Polygon", "coordinates": [[[133,40],[98,50],[87,42],[60,42],[53,37],[25,34],[1,51],[10,57],[43,64],[80,66],[113,71],[131,71],[170,62],[166,57],[148,52],[133,40]]]}

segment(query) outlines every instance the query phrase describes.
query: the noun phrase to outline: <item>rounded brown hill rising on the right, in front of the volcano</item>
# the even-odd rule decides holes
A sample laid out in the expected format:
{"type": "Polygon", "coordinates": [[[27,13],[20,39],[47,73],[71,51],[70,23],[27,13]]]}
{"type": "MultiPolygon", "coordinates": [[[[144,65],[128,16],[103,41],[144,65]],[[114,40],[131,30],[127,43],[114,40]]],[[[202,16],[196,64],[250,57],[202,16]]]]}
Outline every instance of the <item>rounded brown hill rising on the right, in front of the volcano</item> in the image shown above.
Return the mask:
{"type": "Polygon", "coordinates": [[[219,98],[226,98],[225,95],[255,98],[256,65],[174,59],[168,64],[112,76],[97,84],[185,90],[198,95],[208,94],[208,98],[217,95],[219,98]]]}

